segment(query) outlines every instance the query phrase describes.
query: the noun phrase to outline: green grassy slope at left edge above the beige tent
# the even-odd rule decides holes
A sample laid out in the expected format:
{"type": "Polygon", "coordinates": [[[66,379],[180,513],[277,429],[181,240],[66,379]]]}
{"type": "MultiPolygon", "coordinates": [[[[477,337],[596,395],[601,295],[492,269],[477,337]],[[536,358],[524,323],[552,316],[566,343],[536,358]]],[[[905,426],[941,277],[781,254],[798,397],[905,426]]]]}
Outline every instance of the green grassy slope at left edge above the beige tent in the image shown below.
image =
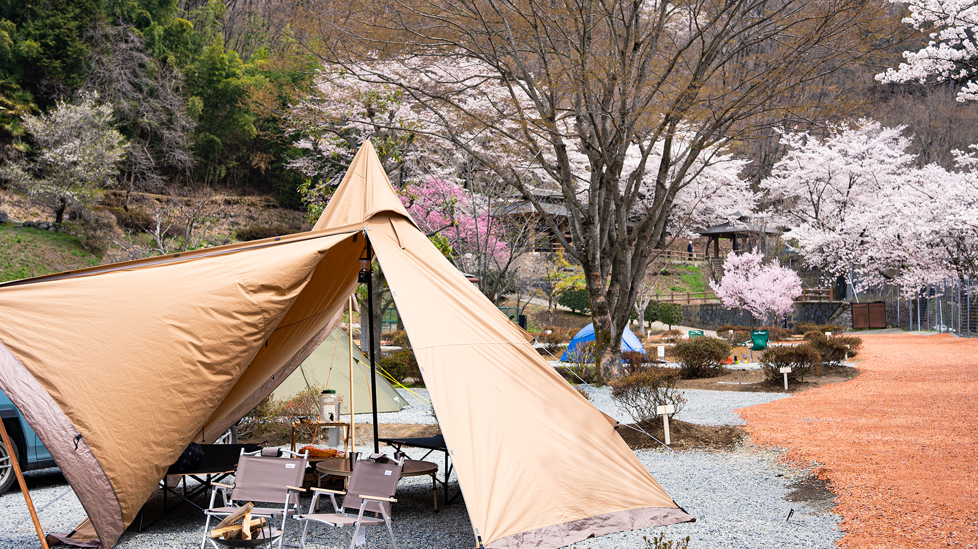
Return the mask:
{"type": "Polygon", "coordinates": [[[62,232],[0,225],[0,281],[59,273],[102,263],[62,232]]]}

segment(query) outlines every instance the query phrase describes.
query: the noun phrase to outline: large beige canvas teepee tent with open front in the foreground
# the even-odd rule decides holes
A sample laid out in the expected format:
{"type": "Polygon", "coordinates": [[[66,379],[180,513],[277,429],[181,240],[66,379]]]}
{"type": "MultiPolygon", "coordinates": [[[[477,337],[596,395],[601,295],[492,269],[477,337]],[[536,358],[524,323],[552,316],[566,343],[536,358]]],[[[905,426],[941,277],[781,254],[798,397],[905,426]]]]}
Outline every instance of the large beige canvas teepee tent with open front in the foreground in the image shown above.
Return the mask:
{"type": "Polygon", "coordinates": [[[365,235],[477,545],[553,548],[692,519],[418,230],[368,143],[311,232],[0,285],[0,389],[106,547],[187,443],[224,433],[333,331],[365,235]]]}

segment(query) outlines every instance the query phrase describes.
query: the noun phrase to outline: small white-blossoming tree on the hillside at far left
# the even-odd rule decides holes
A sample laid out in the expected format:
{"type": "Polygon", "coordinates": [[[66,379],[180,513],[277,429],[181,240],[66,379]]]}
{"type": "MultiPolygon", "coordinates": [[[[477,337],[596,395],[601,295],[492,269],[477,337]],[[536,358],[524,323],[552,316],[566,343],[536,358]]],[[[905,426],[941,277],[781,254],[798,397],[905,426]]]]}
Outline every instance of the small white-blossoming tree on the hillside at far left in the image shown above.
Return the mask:
{"type": "Polygon", "coordinates": [[[102,190],[115,185],[126,145],[112,127],[112,108],[93,96],[77,105],[59,102],[43,114],[27,114],[23,126],[34,154],[0,167],[10,180],[62,223],[67,208],[83,214],[102,190]]]}

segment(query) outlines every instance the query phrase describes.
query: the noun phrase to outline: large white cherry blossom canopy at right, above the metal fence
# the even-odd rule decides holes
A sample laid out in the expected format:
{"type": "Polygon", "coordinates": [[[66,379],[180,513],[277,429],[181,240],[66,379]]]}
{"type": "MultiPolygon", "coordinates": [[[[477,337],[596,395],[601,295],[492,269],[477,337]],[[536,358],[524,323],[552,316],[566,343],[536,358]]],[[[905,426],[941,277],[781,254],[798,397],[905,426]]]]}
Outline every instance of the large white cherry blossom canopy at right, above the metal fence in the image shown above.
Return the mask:
{"type": "Polygon", "coordinates": [[[789,150],[761,182],[768,214],[824,274],[912,290],[976,273],[978,160],[955,151],[957,170],[915,168],[903,130],[860,120],[822,139],[783,136],[789,150]]]}

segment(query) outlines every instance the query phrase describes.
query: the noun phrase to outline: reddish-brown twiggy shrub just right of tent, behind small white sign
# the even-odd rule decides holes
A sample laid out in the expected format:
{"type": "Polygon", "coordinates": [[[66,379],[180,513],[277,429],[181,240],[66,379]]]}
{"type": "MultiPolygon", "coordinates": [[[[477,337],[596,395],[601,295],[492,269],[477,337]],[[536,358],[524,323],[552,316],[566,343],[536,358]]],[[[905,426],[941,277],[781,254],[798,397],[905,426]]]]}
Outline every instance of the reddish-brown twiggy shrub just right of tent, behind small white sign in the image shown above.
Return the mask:
{"type": "Polygon", "coordinates": [[[672,404],[676,415],[683,409],[686,398],[676,389],[679,372],[672,368],[651,366],[608,381],[611,398],[621,404],[636,423],[657,417],[656,406],[672,404]]]}

